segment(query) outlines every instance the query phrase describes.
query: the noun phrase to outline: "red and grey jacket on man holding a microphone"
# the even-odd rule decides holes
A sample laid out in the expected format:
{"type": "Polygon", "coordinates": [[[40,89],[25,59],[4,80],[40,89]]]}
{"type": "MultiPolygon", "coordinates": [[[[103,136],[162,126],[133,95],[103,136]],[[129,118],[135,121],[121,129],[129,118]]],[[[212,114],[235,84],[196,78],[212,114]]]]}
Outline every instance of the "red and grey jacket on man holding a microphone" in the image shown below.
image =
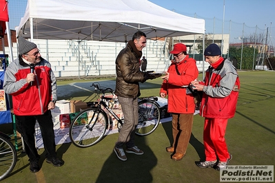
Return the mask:
{"type": "Polygon", "coordinates": [[[27,83],[30,66],[16,59],[8,65],[3,89],[12,96],[12,107],[17,116],[36,116],[48,110],[50,100],[57,100],[57,82],[50,63],[41,58],[34,67],[37,75],[33,84],[27,83]]]}

